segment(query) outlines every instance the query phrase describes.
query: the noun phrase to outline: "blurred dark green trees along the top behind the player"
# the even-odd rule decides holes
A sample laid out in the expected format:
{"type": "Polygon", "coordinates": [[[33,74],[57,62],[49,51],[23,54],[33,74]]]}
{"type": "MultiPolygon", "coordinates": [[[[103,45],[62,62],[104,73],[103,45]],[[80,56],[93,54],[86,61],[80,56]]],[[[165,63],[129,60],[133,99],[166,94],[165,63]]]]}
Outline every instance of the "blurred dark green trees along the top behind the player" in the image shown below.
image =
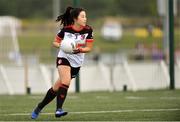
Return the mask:
{"type": "MultiPolygon", "coordinates": [[[[79,0],[90,18],[102,16],[157,16],[156,0],[79,0]]],[[[73,0],[60,0],[61,11],[73,6],[73,0]]],[[[0,16],[52,18],[53,0],[0,0],[0,16]]]]}

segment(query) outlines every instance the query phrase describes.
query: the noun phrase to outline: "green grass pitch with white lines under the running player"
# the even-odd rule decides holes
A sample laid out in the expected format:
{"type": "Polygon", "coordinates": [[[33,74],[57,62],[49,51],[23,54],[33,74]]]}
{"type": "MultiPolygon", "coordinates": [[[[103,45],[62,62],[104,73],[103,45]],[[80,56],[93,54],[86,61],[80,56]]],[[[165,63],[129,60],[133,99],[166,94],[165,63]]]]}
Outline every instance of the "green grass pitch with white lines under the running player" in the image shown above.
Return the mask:
{"type": "MultiPolygon", "coordinates": [[[[0,121],[31,121],[44,95],[0,95],[0,121]]],[[[55,100],[38,121],[180,121],[180,90],[69,93],[68,115],[55,118],[55,100]]]]}

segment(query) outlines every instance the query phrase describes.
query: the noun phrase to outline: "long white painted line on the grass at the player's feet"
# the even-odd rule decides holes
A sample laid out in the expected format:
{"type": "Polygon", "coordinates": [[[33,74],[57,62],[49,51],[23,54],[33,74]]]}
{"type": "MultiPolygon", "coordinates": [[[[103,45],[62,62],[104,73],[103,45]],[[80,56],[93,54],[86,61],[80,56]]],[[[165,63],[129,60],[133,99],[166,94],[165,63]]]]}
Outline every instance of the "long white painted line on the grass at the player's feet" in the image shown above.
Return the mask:
{"type": "MultiPolygon", "coordinates": [[[[136,109],[136,110],[112,110],[112,111],[81,111],[81,112],[69,112],[69,114],[103,114],[103,113],[128,113],[128,112],[167,112],[167,111],[180,111],[180,108],[170,109],[136,109]]],[[[0,114],[0,116],[28,116],[31,113],[12,113],[12,114],[0,114]]],[[[41,115],[53,115],[54,113],[41,113],[41,115]]]]}

